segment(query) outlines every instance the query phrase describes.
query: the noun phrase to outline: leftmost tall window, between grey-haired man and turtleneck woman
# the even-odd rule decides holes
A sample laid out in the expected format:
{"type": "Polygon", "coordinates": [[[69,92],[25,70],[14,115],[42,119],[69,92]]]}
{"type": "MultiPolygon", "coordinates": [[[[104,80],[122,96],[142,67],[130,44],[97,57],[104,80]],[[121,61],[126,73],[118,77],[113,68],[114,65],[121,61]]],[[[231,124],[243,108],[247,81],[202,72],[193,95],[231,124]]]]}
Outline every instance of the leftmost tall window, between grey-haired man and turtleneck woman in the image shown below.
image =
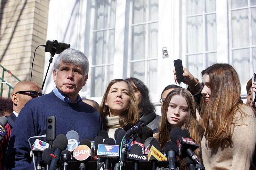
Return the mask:
{"type": "Polygon", "coordinates": [[[115,22],[116,0],[96,1],[91,66],[91,97],[102,96],[109,81],[113,79],[115,22]]]}

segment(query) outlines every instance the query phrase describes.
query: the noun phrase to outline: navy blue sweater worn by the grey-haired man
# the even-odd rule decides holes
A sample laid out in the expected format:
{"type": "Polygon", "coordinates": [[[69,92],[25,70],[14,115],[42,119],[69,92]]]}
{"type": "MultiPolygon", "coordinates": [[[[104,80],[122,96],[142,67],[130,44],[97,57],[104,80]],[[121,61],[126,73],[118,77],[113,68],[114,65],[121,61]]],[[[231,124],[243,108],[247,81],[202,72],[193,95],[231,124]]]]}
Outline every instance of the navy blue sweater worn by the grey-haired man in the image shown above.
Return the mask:
{"type": "MultiPolygon", "coordinates": [[[[56,136],[75,130],[80,140],[94,139],[102,130],[100,114],[82,100],[68,103],[53,92],[29,100],[14,123],[5,159],[6,169],[34,169],[28,138],[46,134],[48,116],[56,117],[56,136]]],[[[31,139],[31,144],[34,141],[31,139]]]]}

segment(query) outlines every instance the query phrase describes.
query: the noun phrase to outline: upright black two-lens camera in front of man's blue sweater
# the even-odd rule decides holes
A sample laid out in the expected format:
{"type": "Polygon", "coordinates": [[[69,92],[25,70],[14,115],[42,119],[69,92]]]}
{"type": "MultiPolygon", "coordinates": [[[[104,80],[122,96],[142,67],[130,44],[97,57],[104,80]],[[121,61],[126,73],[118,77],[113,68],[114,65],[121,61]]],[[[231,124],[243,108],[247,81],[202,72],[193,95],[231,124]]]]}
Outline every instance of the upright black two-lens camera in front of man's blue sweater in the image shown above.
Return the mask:
{"type": "Polygon", "coordinates": [[[46,141],[54,141],[56,137],[56,117],[48,116],[46,118],[46,141]]]}

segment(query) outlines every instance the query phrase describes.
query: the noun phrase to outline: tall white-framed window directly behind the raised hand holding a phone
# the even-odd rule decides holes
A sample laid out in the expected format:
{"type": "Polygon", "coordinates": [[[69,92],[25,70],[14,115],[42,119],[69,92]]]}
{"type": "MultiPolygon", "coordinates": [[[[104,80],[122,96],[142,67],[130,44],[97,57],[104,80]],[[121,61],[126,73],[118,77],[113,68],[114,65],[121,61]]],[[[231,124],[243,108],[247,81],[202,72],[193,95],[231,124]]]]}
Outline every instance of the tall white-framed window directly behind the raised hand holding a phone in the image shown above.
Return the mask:
{"type": "Polygon", "coordinates": [[[200,72],[217,62],[215,0],[186,0],[186,65],[200,77],[200,72]]]}

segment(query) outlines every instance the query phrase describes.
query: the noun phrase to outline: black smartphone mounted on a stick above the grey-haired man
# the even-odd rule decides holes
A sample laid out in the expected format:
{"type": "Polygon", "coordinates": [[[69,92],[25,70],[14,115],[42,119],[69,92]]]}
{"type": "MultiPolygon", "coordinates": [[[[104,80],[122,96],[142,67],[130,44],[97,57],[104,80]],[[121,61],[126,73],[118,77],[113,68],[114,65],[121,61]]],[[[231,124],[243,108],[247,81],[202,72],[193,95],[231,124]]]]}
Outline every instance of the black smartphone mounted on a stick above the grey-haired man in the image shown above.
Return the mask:
{"type": "Polygon", "coordinates": [[[58,42],[57,40],[55,40],[55,41],[48,40],[48,41],[46,41],[44,51],[52,53],[53,46],[56,46],[55,54],[60,54],[65,49],[70,48],[70,44],[58,42]]]}

